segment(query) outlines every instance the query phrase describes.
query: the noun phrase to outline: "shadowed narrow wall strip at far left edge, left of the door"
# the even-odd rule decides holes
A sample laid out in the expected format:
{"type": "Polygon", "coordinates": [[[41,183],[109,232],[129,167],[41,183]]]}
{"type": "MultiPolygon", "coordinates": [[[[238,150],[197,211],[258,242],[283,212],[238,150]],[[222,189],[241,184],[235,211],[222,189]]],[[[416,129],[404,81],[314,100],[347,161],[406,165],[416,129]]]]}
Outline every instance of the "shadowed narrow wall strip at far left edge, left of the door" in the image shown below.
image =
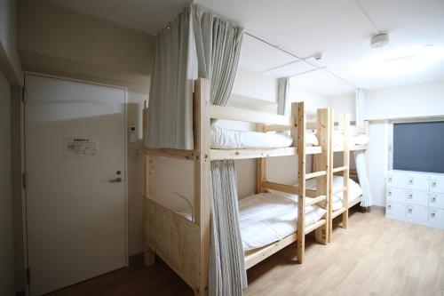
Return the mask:
{"type": "Polygon", "coordinates": [[[15,294],[12,224],[11,87],[0,70],[0,294],[15,294]]]}

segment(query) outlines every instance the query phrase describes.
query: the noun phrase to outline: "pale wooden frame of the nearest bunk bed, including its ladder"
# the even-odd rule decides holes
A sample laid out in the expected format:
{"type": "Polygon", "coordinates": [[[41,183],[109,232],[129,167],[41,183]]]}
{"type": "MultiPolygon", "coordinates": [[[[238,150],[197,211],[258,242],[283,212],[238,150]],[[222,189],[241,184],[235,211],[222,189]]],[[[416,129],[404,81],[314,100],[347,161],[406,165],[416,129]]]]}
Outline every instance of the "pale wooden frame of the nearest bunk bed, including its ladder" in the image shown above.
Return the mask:
{"type": "MultiPolygon", "coordinates": [[[[144,108],[144,129],[147,127],[147,104],[144,108]]],[[[331,191],[331,109],[318,110],[320,146],[305,147],[306,116],[304,102],[293,103],[291,116],[210,105],[210,83],[194,81],[194,149],[145,148],[146,188],[144,198],[145,263],[152,265],[155,254],[194,289],[195,295],[208,294],[210,253],[210,161],[224,159],[258,159],[258,192],[274,189],[298,195],[297,232],[274,244],[245,253],[246,268],[266,259],[285,246],[297,242],[297,262],[304,261],[305,234],[315,231],[321,244],[329,241],[329,195],[331,191]],[[293,146],[289,148],[211,149],[210,119],[226,119],[259,124],[261,132],[290,131],[293,146]],[[305,156],[315,155],[316,171],[305,172],[305,156]],[[162,204],[155,197],[155,156],[185,159],[194,162],[194,219],[183,216],[162,204]],[[273,156],[298,156],[297,186],[266,180],[266,159],[273,156]],[[305,180],[317,178],[317,190],[307,193],[305,180]],[[327,212],[323,219],[305,226],[305,206],[320,204],[327,212]],[[302,218],[302,219],[301,219],[302,218]]],[[[144,131],[147,137],[147,131],[144,131]]]]}

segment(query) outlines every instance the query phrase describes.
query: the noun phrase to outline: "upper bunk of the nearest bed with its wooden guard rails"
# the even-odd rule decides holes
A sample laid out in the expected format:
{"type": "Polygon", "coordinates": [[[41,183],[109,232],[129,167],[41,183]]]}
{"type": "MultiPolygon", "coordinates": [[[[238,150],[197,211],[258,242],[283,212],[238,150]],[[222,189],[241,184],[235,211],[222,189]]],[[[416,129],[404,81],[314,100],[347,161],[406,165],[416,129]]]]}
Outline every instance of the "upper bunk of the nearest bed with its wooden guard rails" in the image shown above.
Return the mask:
{"type": "MultiPolygon", "coordinates": [[[[144,108],[144,126],[147,124],[147,104],[144,108]]],[[[194,149],[181,150],[173,148],[144,148],[149,156],[165,156],[186,160],[196,160],[202,154],[202,151],[208,151],[202,157],[212,160],[226,159],[246,159],[246,158],[263,158],[274,156],[297,156],[299,153],[304,155],[320,154],[322,148],[314,142],[307,141],[307,137],[300,136],[299,133],[306,130],[306,116],[304,102],[293,103],[291,116],[281,116],[266,112],[252,111],[243,108],[222,107],[210,104],[210,87],[206,79],[199,78],[194,81],[194,149]],[[239,121],[244,123],[252,123],[258,125],[258,132],[240,132],[229,131],[226,129],[218,130],[211,127],[214,120],[239,121]],[[282,132],[280,134],[280,132],[282,132]],[[226,140],[217,139],[219,136],[227,139],[236,140],[234,145],[227,145],[225,148],[220,143],[226,140]],[[239,140],[244,137],[244,140],[239,140]],[[250,137],[250,138],[249,138],[250,137]],[[253,139],[251,139],[251,137],[253,139]],[[283,137],[285,139],[279,139],[283,137]],[[271,139],[267,139],[271,138],[271,139]],[[257,140],[257,139],[262,139],[257,140]],[[281,142],[281,147],[275,147],[274,142],[281,142]],[[258,145],[247,145],[242,147],[243,142],[270,143],[270,147],[258,145]],[[234,147],[234,148],[233,148],[234,147]]],[[[319,127],[318,123],[313,123],[319,127]]],[[[147,135],[144,135],[145,137],[147,135]]]]}

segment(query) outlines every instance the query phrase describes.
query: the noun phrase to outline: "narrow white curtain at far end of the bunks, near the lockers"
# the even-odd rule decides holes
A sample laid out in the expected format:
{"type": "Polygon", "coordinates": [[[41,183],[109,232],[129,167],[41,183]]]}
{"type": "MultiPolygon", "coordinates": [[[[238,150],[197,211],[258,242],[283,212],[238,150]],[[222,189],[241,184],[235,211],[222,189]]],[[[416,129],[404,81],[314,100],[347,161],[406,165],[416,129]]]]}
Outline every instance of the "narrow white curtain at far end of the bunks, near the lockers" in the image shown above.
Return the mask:
{"type": "MultiPolygon", "coordinates": [[[[364,127],[364,90],[356,90],[356,126],[364,127]]],[[[367,164],[364,151],[354,151],[354,161],[356,163],[356,172],[360,180],[362,188],[361,206],[369,207],[373,205],[373,197],[371,195],[369,174],[367,172],[367,164]]]]}

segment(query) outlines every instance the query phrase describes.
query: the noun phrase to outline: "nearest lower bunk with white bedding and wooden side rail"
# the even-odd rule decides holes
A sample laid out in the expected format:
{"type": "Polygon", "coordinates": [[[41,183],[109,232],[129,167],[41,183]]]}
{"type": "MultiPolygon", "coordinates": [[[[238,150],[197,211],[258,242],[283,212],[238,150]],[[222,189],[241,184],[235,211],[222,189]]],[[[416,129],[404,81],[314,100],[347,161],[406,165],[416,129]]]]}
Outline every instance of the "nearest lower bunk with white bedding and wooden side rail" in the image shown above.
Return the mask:
{"type": "MultiPolygon", "coordinates": [[[[326,212],[317,204],[305,206],[305,235],[326,223],[326,212]]],[[[178,214],[193,220],[191,211],[178,214]]],[[[269,190],[244,197],[239,222],[248,269],[297,241],[297,196],[269,190]]]]}

